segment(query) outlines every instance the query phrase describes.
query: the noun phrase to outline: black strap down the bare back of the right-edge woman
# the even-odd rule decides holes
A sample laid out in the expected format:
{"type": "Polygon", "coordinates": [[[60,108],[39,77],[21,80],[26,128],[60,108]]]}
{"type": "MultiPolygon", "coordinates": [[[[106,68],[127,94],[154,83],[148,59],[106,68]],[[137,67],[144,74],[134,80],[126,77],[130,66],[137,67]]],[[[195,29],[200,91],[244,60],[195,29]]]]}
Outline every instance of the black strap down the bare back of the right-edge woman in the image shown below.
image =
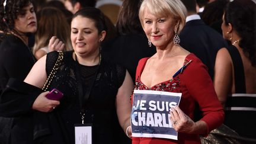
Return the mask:
{"type": "Polygon", "coordinates": [[[230,46],[228,48],[229,54],[231,55],[233,68],[235,73],[235,93],[246,93],[245,87],[245,74],[244,65],[242,64],[241,55],[235,46],[230,46]]]}

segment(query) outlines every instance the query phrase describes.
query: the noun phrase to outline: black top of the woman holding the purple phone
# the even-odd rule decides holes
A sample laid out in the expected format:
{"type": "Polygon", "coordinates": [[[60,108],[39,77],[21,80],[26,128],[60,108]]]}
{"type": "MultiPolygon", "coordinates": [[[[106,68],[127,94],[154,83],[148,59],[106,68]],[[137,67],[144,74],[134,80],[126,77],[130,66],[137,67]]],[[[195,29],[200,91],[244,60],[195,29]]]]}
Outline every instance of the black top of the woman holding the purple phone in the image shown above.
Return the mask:
{"type": "MultiPolygon", "coordinates": [[[[47,75],[52,71],[57,56],[57,52],[47,55],[47,75]]],[[[74,142],[73,125],[81,124],[82,122],[78,96],[79,82],[82,82],[84,94],[88,88],[88,81],[94,78],[94,74],[98,71],[91,94],[88,100],[83,102],[85,104],[84,123],[93,124],[93,143],[118,143],[116,133],[122,132],[122,130],[117,119],[115,100],[117,91],[123,84],[126,69],[102,59],[100,65],[78,65],[79,75],[81,75],[81,78],[78,79],[75,65],[76,61],[72,57],[72,52],[64,53],[60,69],[57,71],[56,77],[49,87],[49,90],[57,88],[64,94],[64,97],[60,100],[60,105],[55,109],[65,126],[63,129],[67,129],[68,133],[72,134],[70,139],[71,142],[74,142]]]]}

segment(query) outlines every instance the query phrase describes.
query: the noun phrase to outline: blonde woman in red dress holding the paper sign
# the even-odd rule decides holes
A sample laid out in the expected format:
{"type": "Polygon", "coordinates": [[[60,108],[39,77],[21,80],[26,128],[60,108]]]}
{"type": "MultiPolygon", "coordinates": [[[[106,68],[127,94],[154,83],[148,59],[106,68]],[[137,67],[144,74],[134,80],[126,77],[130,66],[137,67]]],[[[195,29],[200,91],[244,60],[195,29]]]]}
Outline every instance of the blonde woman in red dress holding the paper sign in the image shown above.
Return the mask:
{"type": "MultiPolygon", "coordinates": [[[[187,11],[180,0],[144,0],[139,18],[156,54],[141,59],[137,66],[136,90],[182,93],[180,104],[170,111],[178,140],[156,137],[132,137],[133,144],[201,143],[207,134],[223,123],[224,112],[217,99],[207,68],[193,54],[179,45],[178,34],[185,24],[187,11]],[[194,121],[194,107],[199,104],[203,117],[194,121]]],[[[128,134],[131,136],[131,130],[128,134]]]]}

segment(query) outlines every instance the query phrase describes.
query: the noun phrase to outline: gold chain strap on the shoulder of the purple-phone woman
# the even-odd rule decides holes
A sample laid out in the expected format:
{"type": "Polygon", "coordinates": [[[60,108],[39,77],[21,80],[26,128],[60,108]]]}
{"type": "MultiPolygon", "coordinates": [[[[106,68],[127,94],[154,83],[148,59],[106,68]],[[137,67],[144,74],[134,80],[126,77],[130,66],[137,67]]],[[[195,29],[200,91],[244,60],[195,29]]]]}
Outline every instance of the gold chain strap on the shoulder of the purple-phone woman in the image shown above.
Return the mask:
{"type": "Polygon", "coordinates": [[[53,66],[53,69],[52,71],[50,72],[50,75],[48,76],[47,80],[46,80],[46,83],[44,84],[43,86],[43,91],[46,91],[50,85],[50,83],[52,82],[52,79],[53,77],[55,76],[55,73],[57,72],[57,70],[59,69],[59,66],[60,66],[60,62],[62,61],[63,59],[63,52],[61,51],[57,51],[59,52],[59,56],[57,58],[57,61],[55,63],[55,65],[53,66]]]}

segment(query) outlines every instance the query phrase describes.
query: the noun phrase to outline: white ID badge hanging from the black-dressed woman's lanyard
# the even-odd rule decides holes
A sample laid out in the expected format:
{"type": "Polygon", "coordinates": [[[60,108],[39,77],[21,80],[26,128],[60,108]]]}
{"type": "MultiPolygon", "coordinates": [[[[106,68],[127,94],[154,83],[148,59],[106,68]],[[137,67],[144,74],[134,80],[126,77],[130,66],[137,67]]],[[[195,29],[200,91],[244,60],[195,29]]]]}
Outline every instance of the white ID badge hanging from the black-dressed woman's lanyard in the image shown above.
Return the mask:
{"type": "Polygon", "coordinates": [[[92,124],[75,124],[75,144],[92,144],[92,124]]]}

